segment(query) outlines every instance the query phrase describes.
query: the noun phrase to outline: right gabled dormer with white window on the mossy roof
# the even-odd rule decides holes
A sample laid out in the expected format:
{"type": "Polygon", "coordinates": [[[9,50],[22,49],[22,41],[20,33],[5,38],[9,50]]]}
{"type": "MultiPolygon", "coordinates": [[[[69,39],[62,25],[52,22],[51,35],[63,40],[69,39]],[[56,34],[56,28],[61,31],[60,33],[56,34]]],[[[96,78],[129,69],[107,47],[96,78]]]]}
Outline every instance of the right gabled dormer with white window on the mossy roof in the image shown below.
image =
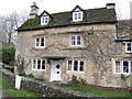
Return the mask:
{"type": "Polygon", "coordinates": [[[74,8],[74,10],[72,11],[72,14],[73,14],[74,22],[82,21],[84,19],[84,10],[79,6],[76,6],[74,8]]]}

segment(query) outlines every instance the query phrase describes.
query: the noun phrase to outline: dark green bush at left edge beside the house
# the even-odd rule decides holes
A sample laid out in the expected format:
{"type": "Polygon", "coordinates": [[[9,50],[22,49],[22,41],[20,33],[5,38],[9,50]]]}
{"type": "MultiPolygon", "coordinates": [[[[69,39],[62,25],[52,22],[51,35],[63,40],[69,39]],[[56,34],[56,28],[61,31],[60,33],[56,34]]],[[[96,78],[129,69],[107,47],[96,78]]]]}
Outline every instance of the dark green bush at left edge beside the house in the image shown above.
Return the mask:
{"type": "Polygon", "coordinates": [[[2,48],[0,50],[0,56],[2,56],[2,58],[0,58],[0,61],[3,64],[8,64],[8,65],[13,65],[14,63],[14,57],[15,57],[15,50],[14,48],[2,48]]]}

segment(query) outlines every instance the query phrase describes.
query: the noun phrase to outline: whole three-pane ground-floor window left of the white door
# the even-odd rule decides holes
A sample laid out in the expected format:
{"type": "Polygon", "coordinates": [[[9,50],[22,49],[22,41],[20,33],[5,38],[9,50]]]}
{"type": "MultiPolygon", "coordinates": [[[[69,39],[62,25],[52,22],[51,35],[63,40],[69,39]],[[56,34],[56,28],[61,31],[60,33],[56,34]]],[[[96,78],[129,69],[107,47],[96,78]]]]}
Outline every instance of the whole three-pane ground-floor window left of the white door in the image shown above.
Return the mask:
{"type": "Polygon", "coordinates": [[[33,59],[32,68],[33,70],[44,70],[46,66],[45,59],[33,59]]]}

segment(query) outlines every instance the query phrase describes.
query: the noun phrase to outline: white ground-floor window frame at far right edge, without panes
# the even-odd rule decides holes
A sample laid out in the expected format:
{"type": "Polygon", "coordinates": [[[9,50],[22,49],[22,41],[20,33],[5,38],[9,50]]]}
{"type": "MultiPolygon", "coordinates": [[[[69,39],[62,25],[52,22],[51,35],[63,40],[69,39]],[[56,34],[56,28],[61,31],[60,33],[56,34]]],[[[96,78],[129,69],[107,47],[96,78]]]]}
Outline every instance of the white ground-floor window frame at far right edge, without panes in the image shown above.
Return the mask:
{"type": "Polygon", "coordinates": [[[124,75],[130,75],[132,72],[131,72],[131,66],[132,66],[132,61],[118,61],[118,62],[120,62],[120,64],[121,64],[121,66],[120,66],[120,69],[121,69],[121,72],[120,73],[116,73],[116,62],[117,61],[113,61],[113,63],[114,63],[114,74],[124,74],[124,75]],[[123,62],[129,62],[129,73],[123,73],[123,62]]]}

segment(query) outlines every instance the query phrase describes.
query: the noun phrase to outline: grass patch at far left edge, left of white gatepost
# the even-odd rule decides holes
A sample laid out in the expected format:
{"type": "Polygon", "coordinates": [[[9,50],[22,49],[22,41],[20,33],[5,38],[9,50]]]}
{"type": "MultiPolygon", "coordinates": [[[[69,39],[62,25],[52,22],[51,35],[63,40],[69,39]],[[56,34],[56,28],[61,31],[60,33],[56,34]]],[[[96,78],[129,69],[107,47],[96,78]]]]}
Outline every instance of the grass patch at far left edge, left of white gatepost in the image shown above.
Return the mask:
{"type": "Polygon", "coordinates": [[[0,73],[0,89],[10,89],[11,81],[0,73]]]}

